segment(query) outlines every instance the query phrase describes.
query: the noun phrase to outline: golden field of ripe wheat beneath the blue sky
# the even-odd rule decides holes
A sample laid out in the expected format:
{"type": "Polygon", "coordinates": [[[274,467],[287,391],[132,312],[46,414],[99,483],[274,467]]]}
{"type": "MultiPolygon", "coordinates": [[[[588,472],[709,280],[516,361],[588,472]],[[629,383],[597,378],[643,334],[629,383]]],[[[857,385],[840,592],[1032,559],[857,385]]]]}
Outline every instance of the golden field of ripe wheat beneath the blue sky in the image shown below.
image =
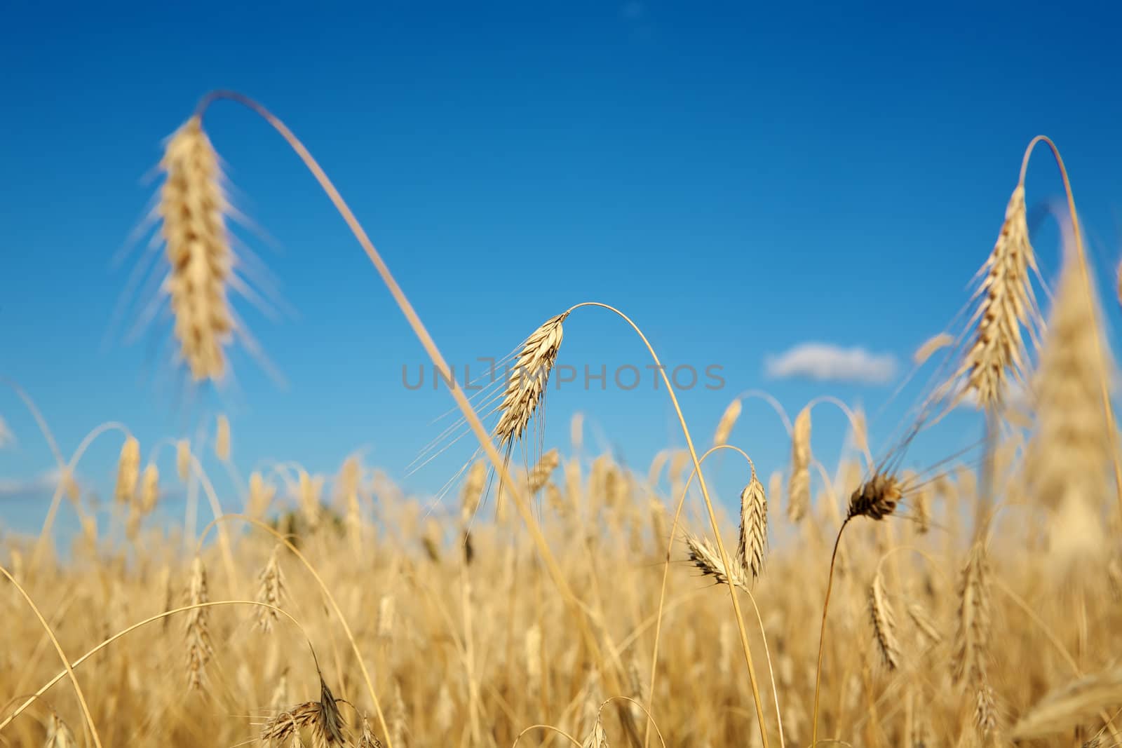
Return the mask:
{"type": "MultiPolygon", "coordinates": [[[[164,292],[188,376],[220,381],[238,332],[230,209],[204,129],[218,102],[293,147],[447,366],[296,136],[218,92],[160,164],[164,292]]],[[[1000,225],[959,299],[969,313],[917,353],[932,385],[904,430],[974,408],[987,426],[974,462],[910,472],[903,452],[871,454],[847,410],[854,449],[824,465],[812,421],[828,399],[789,419],[785,465],[739,450],[741,400],[712,437],[675,400],[688,449],[645,471],[579,440],[534,452],[570,314],[618,315],[657,363],[640,326],[587,302],[515,348],[521,373],[499,382],[493,424],[452,389],[479,451],[436,510],[357,455],[339,455],[335,475],[278,465],[218,496],[211,472],[242,474],[224,417],[167,464],[99,427],[121,444],[111,526],[70,478],[80,449],[58,458],[44,533],[0,537],[0,745],[1122,745],[1113,362],[1050,140],[1029,144],[1000,225]],[[1024,174],[1046,147],[1068,213],[1042,295],[1024,174]],[[513,469],[526,449],[534,462],[513,469]],[[712,455],[743,471],[739,500],[705,482],[712,455]],[[153,520],[172,486],[200,526],[153,520]],[[61,548],[64,501],[82,529],[61,548]]]]}

